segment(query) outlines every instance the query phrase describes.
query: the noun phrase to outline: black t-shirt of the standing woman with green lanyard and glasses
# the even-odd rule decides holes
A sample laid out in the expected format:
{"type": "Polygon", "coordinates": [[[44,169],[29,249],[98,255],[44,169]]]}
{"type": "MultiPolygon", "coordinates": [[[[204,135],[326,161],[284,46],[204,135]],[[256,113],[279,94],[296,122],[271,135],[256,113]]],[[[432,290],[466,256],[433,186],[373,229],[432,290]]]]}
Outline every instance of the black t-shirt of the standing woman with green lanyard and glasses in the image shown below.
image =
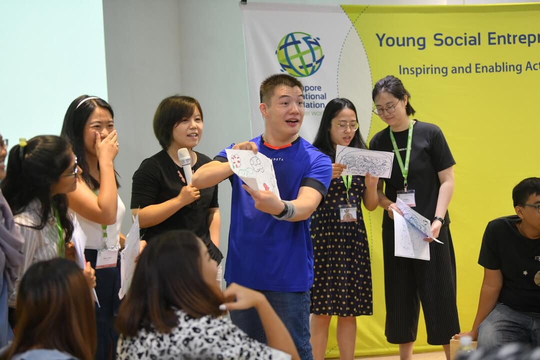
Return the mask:
{"type": "MultiPolygon", "coordinates": [[[[407,153],[408,132],[408,128],[404,131],[394,132],[403,165],[405,165],[407,153]]],[[[390,140],[389,126],[375,134],[369,142],[369,149],[394,152],[392,140],[390,140]]],[[[410,151],[409,174],[407,176],[407,189],[415,191],[416,207],[414,209],[416,212],[429,220],[433,220],[437,207],[438,191],[441,187],[437,173],[455,164],[456,161],[454,161],[441,129],[436,125],[416,120],[413,125],[413,141],[410,151]]],[[[395,154],[392,177],[384,179],[384,183],[386,185],[384,194],[388,199],[396,201],[396,192],[403,190],[403,175],[395,154]]],[[[448,212],[444,216],[444,220],[446,224],[450,223],[448,212]]],[[[384,212],[382,226],[394,228],[394,222],[389,218],[388,212],[384,212]]]]}

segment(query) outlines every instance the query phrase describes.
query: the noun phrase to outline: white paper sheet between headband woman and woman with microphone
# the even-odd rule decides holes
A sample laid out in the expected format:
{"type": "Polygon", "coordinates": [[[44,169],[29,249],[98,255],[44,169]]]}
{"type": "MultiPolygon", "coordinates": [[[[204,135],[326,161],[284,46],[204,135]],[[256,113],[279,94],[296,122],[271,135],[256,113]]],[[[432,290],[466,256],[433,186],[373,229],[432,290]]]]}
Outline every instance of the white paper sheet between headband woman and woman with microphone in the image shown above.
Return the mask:
{"type": "Polygon", "coordinates": [[[130,232],[127,233],[125,248],[120,252],[120,291],[118,297],[123,298],[127,294],[133,279],[137,256],[139,256],[139,215],[135,216],[130,232]]]}

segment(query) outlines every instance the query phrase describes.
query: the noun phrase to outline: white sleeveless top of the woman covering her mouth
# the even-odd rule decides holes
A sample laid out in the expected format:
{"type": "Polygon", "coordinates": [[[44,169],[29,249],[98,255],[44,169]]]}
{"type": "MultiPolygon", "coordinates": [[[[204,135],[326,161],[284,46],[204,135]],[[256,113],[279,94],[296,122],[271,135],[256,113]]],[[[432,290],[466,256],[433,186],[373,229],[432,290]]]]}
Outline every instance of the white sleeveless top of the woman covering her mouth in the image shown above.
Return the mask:
{"type": "MultiPolygon", "coordinates": [[[[118,246],[120,247],[120,228],[122,227],[122,221],[124,220],[124,214],[126,213],[126,207],[120,195],[118,196],[118,206],[116,210],[116,222],[112,225],[107,226],[107,247],[118,246]]],[[[70,209],[70,212],[73,212],[70,209]]],[[[81,216],[77,215],[77,220],[79,221],[80,228],[86,234],[86,247],[85,249],[102,249],[103,248],[103,229],[101,224],[93,222],[81,216]]]]}

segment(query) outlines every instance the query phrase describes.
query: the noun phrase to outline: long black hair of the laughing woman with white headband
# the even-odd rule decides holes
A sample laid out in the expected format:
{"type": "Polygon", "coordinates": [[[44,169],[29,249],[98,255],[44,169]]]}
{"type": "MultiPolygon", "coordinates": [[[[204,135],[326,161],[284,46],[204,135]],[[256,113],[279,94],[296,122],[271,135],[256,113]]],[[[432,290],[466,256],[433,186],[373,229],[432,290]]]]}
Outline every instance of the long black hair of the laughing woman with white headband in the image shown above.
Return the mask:
{"type": "MultiPolygon", "coordinates": [[[[107,101],[88,95],[81,95],[73,100],[64,116],[64,124],[60,136],[68,139],[73,147],[73,152],[77,157],[78,164],[83,170],[81,178],[92,190],[99,189],[99,180],[90,175],[88,163],[86,162],[86,150],[84,148],[84,126],[90,118],[90,115],[97,107],[103,108],[111,113],[114,118],[114,112],[107,101]]],[[[98,164],[99,166],[99,164],[98,164]]],[[[118,174],[114,171],[116,186],[119,187],[118,174]]]]}

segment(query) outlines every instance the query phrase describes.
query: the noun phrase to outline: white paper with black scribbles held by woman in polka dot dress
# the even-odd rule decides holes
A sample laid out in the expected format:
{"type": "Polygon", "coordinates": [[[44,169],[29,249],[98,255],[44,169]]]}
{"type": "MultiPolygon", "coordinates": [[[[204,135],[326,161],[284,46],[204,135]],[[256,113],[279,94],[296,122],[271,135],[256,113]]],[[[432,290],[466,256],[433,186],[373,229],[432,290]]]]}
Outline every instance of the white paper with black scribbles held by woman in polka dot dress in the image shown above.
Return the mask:
{"type": "Polygon", "coordinates": [[[336,164],[346,165],[343,175],[370,175],[379,178],[390,178],[394,153],[374,151],[338,145],[336,147],[336,164]]]}

